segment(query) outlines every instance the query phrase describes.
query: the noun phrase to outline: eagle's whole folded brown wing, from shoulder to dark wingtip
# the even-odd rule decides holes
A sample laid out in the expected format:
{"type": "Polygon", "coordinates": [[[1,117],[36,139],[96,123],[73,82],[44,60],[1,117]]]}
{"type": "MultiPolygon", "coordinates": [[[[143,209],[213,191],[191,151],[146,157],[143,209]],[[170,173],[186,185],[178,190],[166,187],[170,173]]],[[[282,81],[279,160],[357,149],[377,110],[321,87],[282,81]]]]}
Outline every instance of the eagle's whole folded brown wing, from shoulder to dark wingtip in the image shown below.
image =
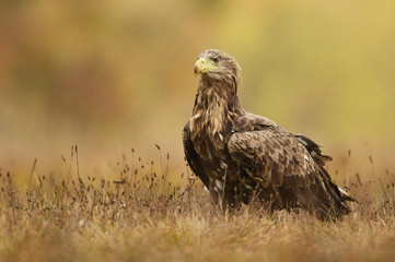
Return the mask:
{"type": "Polygon", "coordinates": [[[314,142],[309,140],[306,148],[300,138],[270,120],[255,115],[246,118],[252,119],[249,126],[243,120],[244,126],[236,127],[228,141],[229,154],[264,190],[272,189],[277,204],[282,206],[295,198],[307,210],[315,207],[323,213],[342,205],[330,187],[330,177],[323,171],[324,162],[315,162],[321,155],[318,146],[314,144],[311,150],[315,157],[309,151],[314,142]]]}

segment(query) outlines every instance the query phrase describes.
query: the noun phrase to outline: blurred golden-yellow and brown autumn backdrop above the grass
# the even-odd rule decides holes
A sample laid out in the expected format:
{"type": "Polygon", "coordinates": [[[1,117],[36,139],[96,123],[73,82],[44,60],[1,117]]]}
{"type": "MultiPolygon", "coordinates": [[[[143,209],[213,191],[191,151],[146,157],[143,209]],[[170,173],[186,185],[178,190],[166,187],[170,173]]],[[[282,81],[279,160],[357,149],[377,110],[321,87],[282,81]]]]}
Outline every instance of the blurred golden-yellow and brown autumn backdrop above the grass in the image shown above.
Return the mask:
{"type": "Polygon", "coordinates": [[[77,144],[95,174],[131,148],[158,160],[159,144],[185,171],[193,67],[218,48],[243,69],[247,110],[316,140],[339,176],[380,174],[395,166],[394,13],[390,0],[2,1],[0,167],[67,171],[77,144]]]}

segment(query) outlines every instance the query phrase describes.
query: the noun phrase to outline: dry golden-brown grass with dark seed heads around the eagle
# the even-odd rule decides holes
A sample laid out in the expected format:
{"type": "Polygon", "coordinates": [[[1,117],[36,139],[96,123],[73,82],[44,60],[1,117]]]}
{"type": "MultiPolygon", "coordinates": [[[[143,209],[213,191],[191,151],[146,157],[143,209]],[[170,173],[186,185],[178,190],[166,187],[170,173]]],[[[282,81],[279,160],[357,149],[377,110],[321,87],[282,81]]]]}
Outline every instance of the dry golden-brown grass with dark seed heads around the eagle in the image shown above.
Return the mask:
{"type": "Polygon", "coordinates": [[[323,223],[304,212],[267,214],[254,206],[221,214],[199,181],[174,174],[171,181],[169,159],[163,162],[155,168],[124,159],[119,177],[109,181],[80,174],[78,160],[65,159],[70,168],[65,180],[36,176],[33,168],[25,188],[2,172],[0,261],[395,259],[390,172],[383,181],[355,176],[350,187],[360,204],[342,221],[323,223]]]}

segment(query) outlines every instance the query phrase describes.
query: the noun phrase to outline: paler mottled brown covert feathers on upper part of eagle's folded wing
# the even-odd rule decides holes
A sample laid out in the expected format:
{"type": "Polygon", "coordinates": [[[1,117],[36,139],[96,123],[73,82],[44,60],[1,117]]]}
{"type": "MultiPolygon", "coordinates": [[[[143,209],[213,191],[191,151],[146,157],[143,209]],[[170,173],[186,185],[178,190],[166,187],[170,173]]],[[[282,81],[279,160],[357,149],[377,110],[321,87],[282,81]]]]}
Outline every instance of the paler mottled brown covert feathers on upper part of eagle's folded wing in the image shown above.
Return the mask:
{"type": "Polygon", "coordinates": [[[228,142],[231,157],[275,187],[283,184],[284,176],[293,176],[299,187],[309,187],[314,180],[314,160],[291,133],[280,129],[235,132],[228,142]],[[253,170],[254,167],[254,170],[253,170]]]}

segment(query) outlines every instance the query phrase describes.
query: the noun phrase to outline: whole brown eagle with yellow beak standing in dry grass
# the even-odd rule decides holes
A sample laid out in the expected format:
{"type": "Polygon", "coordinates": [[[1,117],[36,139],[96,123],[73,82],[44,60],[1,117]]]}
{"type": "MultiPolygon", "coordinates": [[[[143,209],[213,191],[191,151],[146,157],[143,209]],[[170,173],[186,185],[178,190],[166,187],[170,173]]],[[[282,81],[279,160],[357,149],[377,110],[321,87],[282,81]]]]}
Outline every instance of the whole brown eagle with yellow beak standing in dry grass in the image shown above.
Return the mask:
{"type": "Polygon", "coordinates": [[[241,68],[220,50],[206,50],[193,116],[183,130],[187,162],[214,203],[234,210],[258,201],[270,211],[303,207],[320,219],[349,212],[353,199],[325,170],[332,157],[304,135],[251,114],[237,98],[241,68]]]}

